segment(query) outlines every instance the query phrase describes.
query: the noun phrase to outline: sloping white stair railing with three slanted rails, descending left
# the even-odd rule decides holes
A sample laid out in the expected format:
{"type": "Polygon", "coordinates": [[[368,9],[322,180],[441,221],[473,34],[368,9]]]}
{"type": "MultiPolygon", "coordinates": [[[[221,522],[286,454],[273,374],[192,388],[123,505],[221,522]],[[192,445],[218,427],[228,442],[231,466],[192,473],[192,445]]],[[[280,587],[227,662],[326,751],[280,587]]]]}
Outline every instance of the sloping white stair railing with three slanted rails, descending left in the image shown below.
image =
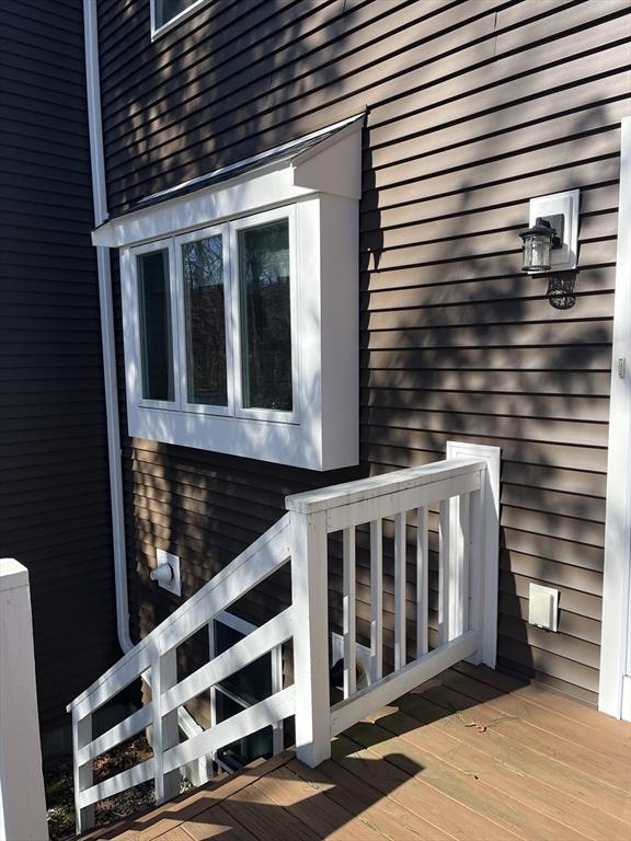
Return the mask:
{"type": "Polygon", "coordinates": [[[294,687],[288,687],[186,741],[179,739],[177,708],[182,704],[291,638],[294,611],[288,608],[177,682],[177,646],[210,626],[289,560],[289,527],[286,515],[68,706],[72,713],[77,832],[93,826],[93,807],[99,800],[150,780],[154,781],[156,802],[170,799],[180,792],[182,765],[294,714],[294,687]],[[151,703],[94,739],[93,713],[140,677],[151,687],[151,703]],[[93,760],[150,725],[153,757],[94,785],[93,760]]]}

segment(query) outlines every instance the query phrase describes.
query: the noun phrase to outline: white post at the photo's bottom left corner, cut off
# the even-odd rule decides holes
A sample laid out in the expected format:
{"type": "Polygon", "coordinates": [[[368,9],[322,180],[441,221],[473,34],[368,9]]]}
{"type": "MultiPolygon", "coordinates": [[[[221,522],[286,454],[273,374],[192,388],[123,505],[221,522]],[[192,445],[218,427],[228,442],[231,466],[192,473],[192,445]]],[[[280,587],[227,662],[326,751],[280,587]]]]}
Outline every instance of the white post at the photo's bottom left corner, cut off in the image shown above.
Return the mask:
{"type": "Polygon", "coordinates": [[[0,558],[0,841],[48,839],[28,571],[0,558]]]}

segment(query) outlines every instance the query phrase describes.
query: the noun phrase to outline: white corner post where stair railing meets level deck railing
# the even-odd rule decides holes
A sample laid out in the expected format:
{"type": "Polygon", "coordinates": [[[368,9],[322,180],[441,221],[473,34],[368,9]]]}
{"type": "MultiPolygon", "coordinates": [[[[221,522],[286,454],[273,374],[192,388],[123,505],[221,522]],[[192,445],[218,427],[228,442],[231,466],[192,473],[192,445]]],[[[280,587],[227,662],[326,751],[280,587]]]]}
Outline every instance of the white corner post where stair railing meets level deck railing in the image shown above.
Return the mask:
{"type": "Polygon", "coordinates": [[[301,762],[314,768],[331,757],[325,511],[291,510],[291,597],[296,617],[296,752],[301,762]]]}

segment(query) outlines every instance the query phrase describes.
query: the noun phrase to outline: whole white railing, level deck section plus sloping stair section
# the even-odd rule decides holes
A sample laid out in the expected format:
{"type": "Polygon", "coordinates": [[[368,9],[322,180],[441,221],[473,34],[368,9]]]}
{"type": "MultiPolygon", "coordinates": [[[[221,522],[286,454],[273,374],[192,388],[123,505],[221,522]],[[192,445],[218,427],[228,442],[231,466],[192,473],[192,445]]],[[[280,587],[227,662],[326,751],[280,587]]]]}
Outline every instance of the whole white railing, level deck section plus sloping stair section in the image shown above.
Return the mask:
{"type": "Polygon", "coordinates": [[[156,800],[161,803],[177,794],[182,765],[290,715],[296,716],[298,758],[317,765],[330,756],[333,736],[458,660],[494,666],[500,451],[449,443],[447,456],[423,468],[287,497],[288,514],[276,526],[70,704],[78,831],[92,825],[97,800],[153,779],[156,800]],[[434,532],[436,507],[438,622],[437,636],[431,640],[428,532],[434,532]],[[328,574],[330,562],[335,563],[330,558],[330,535],[335,534],[342,543],[344,698],[331,706],[328,574]],[[370,659],[368,686],[359,690],[357,535],[370,558],[370,659]],[[389,544],[393,572],[385,576],[389,544]],[[291,606],[177,681],[176,647],[289,560],[291,606]],[[385,580],[393,581],[389,669],[383,665],[385,580]],[[409,584],[414,588],[412,603],[409,584]],[[409,656],[412,632],[414,650],[409,656]],[[183,704],[289,641],[294,684],[180,744],[177,710],[183,704]],[[151,703],[93,739],[94,711],[142,675],[150,681],[151,703]],[[149,725],[152,759],[94,785],[92,761],[149,725]]]}

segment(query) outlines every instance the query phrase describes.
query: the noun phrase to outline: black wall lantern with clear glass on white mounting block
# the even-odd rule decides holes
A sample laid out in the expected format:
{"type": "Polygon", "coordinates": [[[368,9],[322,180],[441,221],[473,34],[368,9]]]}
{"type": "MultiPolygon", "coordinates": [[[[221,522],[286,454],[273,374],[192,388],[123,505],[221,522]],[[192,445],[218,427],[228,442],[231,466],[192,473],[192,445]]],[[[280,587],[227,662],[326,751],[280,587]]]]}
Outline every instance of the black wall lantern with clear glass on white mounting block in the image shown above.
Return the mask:
{"type": "Polygon", "coordinates": [[[572,272],[577,265],[580,191],[530,199],[529,228],[524,242],[523,270],[572,272]]]}

